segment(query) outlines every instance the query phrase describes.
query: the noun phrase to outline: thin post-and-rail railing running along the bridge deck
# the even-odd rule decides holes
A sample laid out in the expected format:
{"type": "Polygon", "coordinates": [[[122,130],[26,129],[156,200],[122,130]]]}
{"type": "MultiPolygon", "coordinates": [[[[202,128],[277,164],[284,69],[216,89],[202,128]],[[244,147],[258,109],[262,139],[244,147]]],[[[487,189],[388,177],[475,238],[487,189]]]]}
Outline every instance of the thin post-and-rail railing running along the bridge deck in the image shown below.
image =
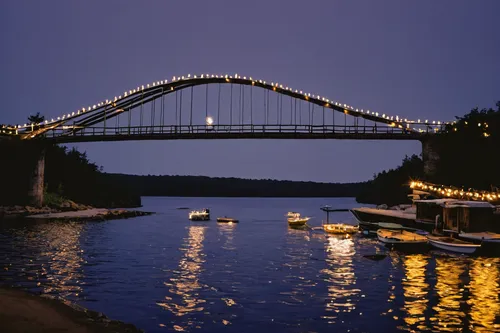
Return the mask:
{"type": "Polygon", "coordinates": [[[202,134],[202,133],[302,133],[302,134],[409,134],[405,128],[389,126],[355,125],[164,125],[131,127],[88,127],[77,129],[52,129],[45,133],[46,138],[61,136],[116,136],[152,134],[202,134]]]}

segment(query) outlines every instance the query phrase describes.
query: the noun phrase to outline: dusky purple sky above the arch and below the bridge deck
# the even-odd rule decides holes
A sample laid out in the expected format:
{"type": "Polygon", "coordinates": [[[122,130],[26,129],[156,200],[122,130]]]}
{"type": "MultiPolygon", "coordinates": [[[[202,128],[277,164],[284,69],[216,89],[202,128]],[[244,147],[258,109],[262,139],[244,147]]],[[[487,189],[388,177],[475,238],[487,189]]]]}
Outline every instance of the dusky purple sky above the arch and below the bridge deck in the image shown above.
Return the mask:
{"type": "MultiPolygon", "coordinates": [[[[412,119],[500,100],[500,1],[0,2],[0,123],[173,75],[238,73],[412,119]]],[[[78,144],[105,171],[361,181],[419,142],[78,144]],[[232,162],[227,163],[230,159],[232,162]]]]}

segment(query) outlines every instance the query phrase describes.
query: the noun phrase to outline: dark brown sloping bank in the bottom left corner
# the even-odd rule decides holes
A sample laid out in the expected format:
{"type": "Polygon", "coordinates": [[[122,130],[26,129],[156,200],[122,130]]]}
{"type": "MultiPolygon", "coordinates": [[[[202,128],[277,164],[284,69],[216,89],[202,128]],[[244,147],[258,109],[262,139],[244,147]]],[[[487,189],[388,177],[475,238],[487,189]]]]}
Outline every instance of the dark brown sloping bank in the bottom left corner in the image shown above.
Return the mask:
{"type": "Polygon", "coordinates": [[[143,332],[132,324],[111,320],[102,313],[71,303],[0,288],[0,332],[143,332]]]}

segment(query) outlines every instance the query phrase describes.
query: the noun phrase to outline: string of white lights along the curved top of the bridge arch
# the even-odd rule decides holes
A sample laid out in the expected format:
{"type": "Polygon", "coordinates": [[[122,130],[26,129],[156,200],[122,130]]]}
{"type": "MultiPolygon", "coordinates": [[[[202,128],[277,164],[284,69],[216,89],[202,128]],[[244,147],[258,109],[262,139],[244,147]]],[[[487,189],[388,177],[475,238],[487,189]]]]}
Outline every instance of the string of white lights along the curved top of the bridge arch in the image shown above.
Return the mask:
{"type": "MultiPolygon", "coordinates": [[[[254,85],[255,83],[259,83],[260,85],[264,86],[264,87],[267,87],[269,89],[272,89],[273,91],[276,91],[276,92],[280,92],[280,91],[288,91],[288,92],[292,92],[292,93],[295,93],[295,94],[300,94],[303,96],[303,98],[307,101],[314,101],[316,103],[324,103],[325,106],[329,106],[329,105],[335,105],[337,107],[341,107],[344,109],[344,112],[346,114],[351,114],[351,115],[369,115],[371,116],[372,118],[379,118],[381,121],[383,122],[388,122],[390,121],[391,123],[389,123],[388,125],[389,126],[398,126],[400,128],[403,128],[403,125],[406,125],[406,127],[408,129],[410,129],[410,124],[418,124],[418,125],[427,125],[427,126],[436,126],[434,128],[434,130],[437,132],[440,130],[439,126],[441,125],[445,125],[445,124],[449,124],[448,122],[442,122],[442,121],[436,121],[436,120],[432,120],[432,121],[429,121],[429,120],[425,120],[425,121],[421,121],[420,119],[418,120],[408,120],[406,118],[400,118],[399,116],[389,116],[385,113],[379,113],[379,112],[374,112],[374,111],[370,111],[370,110],[364,110],[364,109],[359,109],[359,108],[354,108],[353,106],[351,105],[348,105],[348,104],[344,104],[344,103],[341,103],[341,102],[337,102],[337,101],[334,101],[334,100],[330,100],[328,98],[325,98],[323,96],[320,96],[320,95],[314,95],[314,94],[311,94],[311,93],[306,93],[306,92],[303,92],[302,90],[297,90],[297,89],[292,89],[288,86],[283,86],[282,84],[279,84],[278,82],[271,82],[271,83],[267,83],[266,81],[263,81],[263,80],[257,80],[257,79],[253,79],[252,77],[246,77],[246,76],[240,76],[238,74],[235,74],[234,76],[232,75],[228,75],[228,74],[225,74],[225,75],[216,75],[216,74],[201,74],[201,75],[191,75],[191,74],[188,74],[186,76],[174,76],[172,77],[172,80],[169,82],[168,80],[162,80],[162,81],[156,81],[156,82],[152,82],[151,84],[146,84],[146,85],[141,85],[135,89],[131,89],[131,90],[128,90],[128,91],[125,91],[123,93],[123,95],[120,95],[120,96],[115,96],[113,99],[106,99],[105,101],[102,101],[102,102],[98,102],[97,104],[94,104],[94,105],[89,105],[87,107],[83,107],[81,109],[78,109],[76,110],[75,112],[72,112],[72,113],[68,113],[68,114],[64,114],[62,116],[59,116],[57,118],[52,118],[51,120],[45,120],[44,122],[42,123],[38,123],[38,124],[24,124],[24,125],[15,125],[13,128],[9,128],[10,130],[15,130],[16,133],[18,130],[25,130],[25,129],[29,129],[29,128],[32,128],[33,126],[36,126],[36,125],[51,125],[51,124],[58,124],[60,122],[65,122],[65,121],[68,121],[72,118],[75,118],[75,117],[78,117],[80,116],[81,114],[83,113],[87,113],[87,112],[92,112],[94,110],[97,110],[97,109],[100,109],[102,107],[105,107],[107,105],[112,105],[113,103],[116,103],[116,102],[119,102],[120,100],[124,99],[124,98],[127,98],[127,97],[130,97],[134,94],[138,94],[138,93],[141,93],[143,92],[144,90],[148,90],[150,88],[154,88],[154,87],[158,87],[158,86],[162,86],[162,85],[166,85],[166,84],[169,84],[169,83],[177,83],[177,82],[181,82],[181,81],[191,81],[191,80],[207,80],[207,79],[213,79],[213,78],[219,78],[219,79],[225,79],[226,82],[230,82],[231,79],[238,79],[238,80],[245,80],[245,81],[248,81],[247,83],[248,84],[252,84],[254,85]]],[[[174,90],[173,87],[171,87],[171,90],[174,90]]],[[[413,130],[415,131],[419,131],[419,132],[423,132],[422,129],[417,129],[417,128],[413,128],[413,130]]],[[[14,134],[14,133],[12,133],[14,134]]]]}

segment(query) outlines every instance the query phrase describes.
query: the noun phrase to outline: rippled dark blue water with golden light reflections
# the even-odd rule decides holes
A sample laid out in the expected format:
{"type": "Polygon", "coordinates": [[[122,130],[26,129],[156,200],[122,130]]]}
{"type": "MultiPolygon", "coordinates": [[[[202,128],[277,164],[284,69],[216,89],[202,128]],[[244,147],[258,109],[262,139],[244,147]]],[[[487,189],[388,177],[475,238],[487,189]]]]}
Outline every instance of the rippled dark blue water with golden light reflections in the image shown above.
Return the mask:
{"type": "MultiPolygon", "coordinates": [[[[146,332],[500,332],[500,259],[390,252],[289,229],[353,199],[143,198],[157,215],[0,226],[0,283],[58,295],[146,332]],[[210,207],[212,221],[186,210],[210,207]],[[216,216],[239,224],[218,224],[216,216]],[[364,257],[385,253],[381,261],[364,257]]],[[[331,215],[351,220],[350,213],[331,215]]]]}

